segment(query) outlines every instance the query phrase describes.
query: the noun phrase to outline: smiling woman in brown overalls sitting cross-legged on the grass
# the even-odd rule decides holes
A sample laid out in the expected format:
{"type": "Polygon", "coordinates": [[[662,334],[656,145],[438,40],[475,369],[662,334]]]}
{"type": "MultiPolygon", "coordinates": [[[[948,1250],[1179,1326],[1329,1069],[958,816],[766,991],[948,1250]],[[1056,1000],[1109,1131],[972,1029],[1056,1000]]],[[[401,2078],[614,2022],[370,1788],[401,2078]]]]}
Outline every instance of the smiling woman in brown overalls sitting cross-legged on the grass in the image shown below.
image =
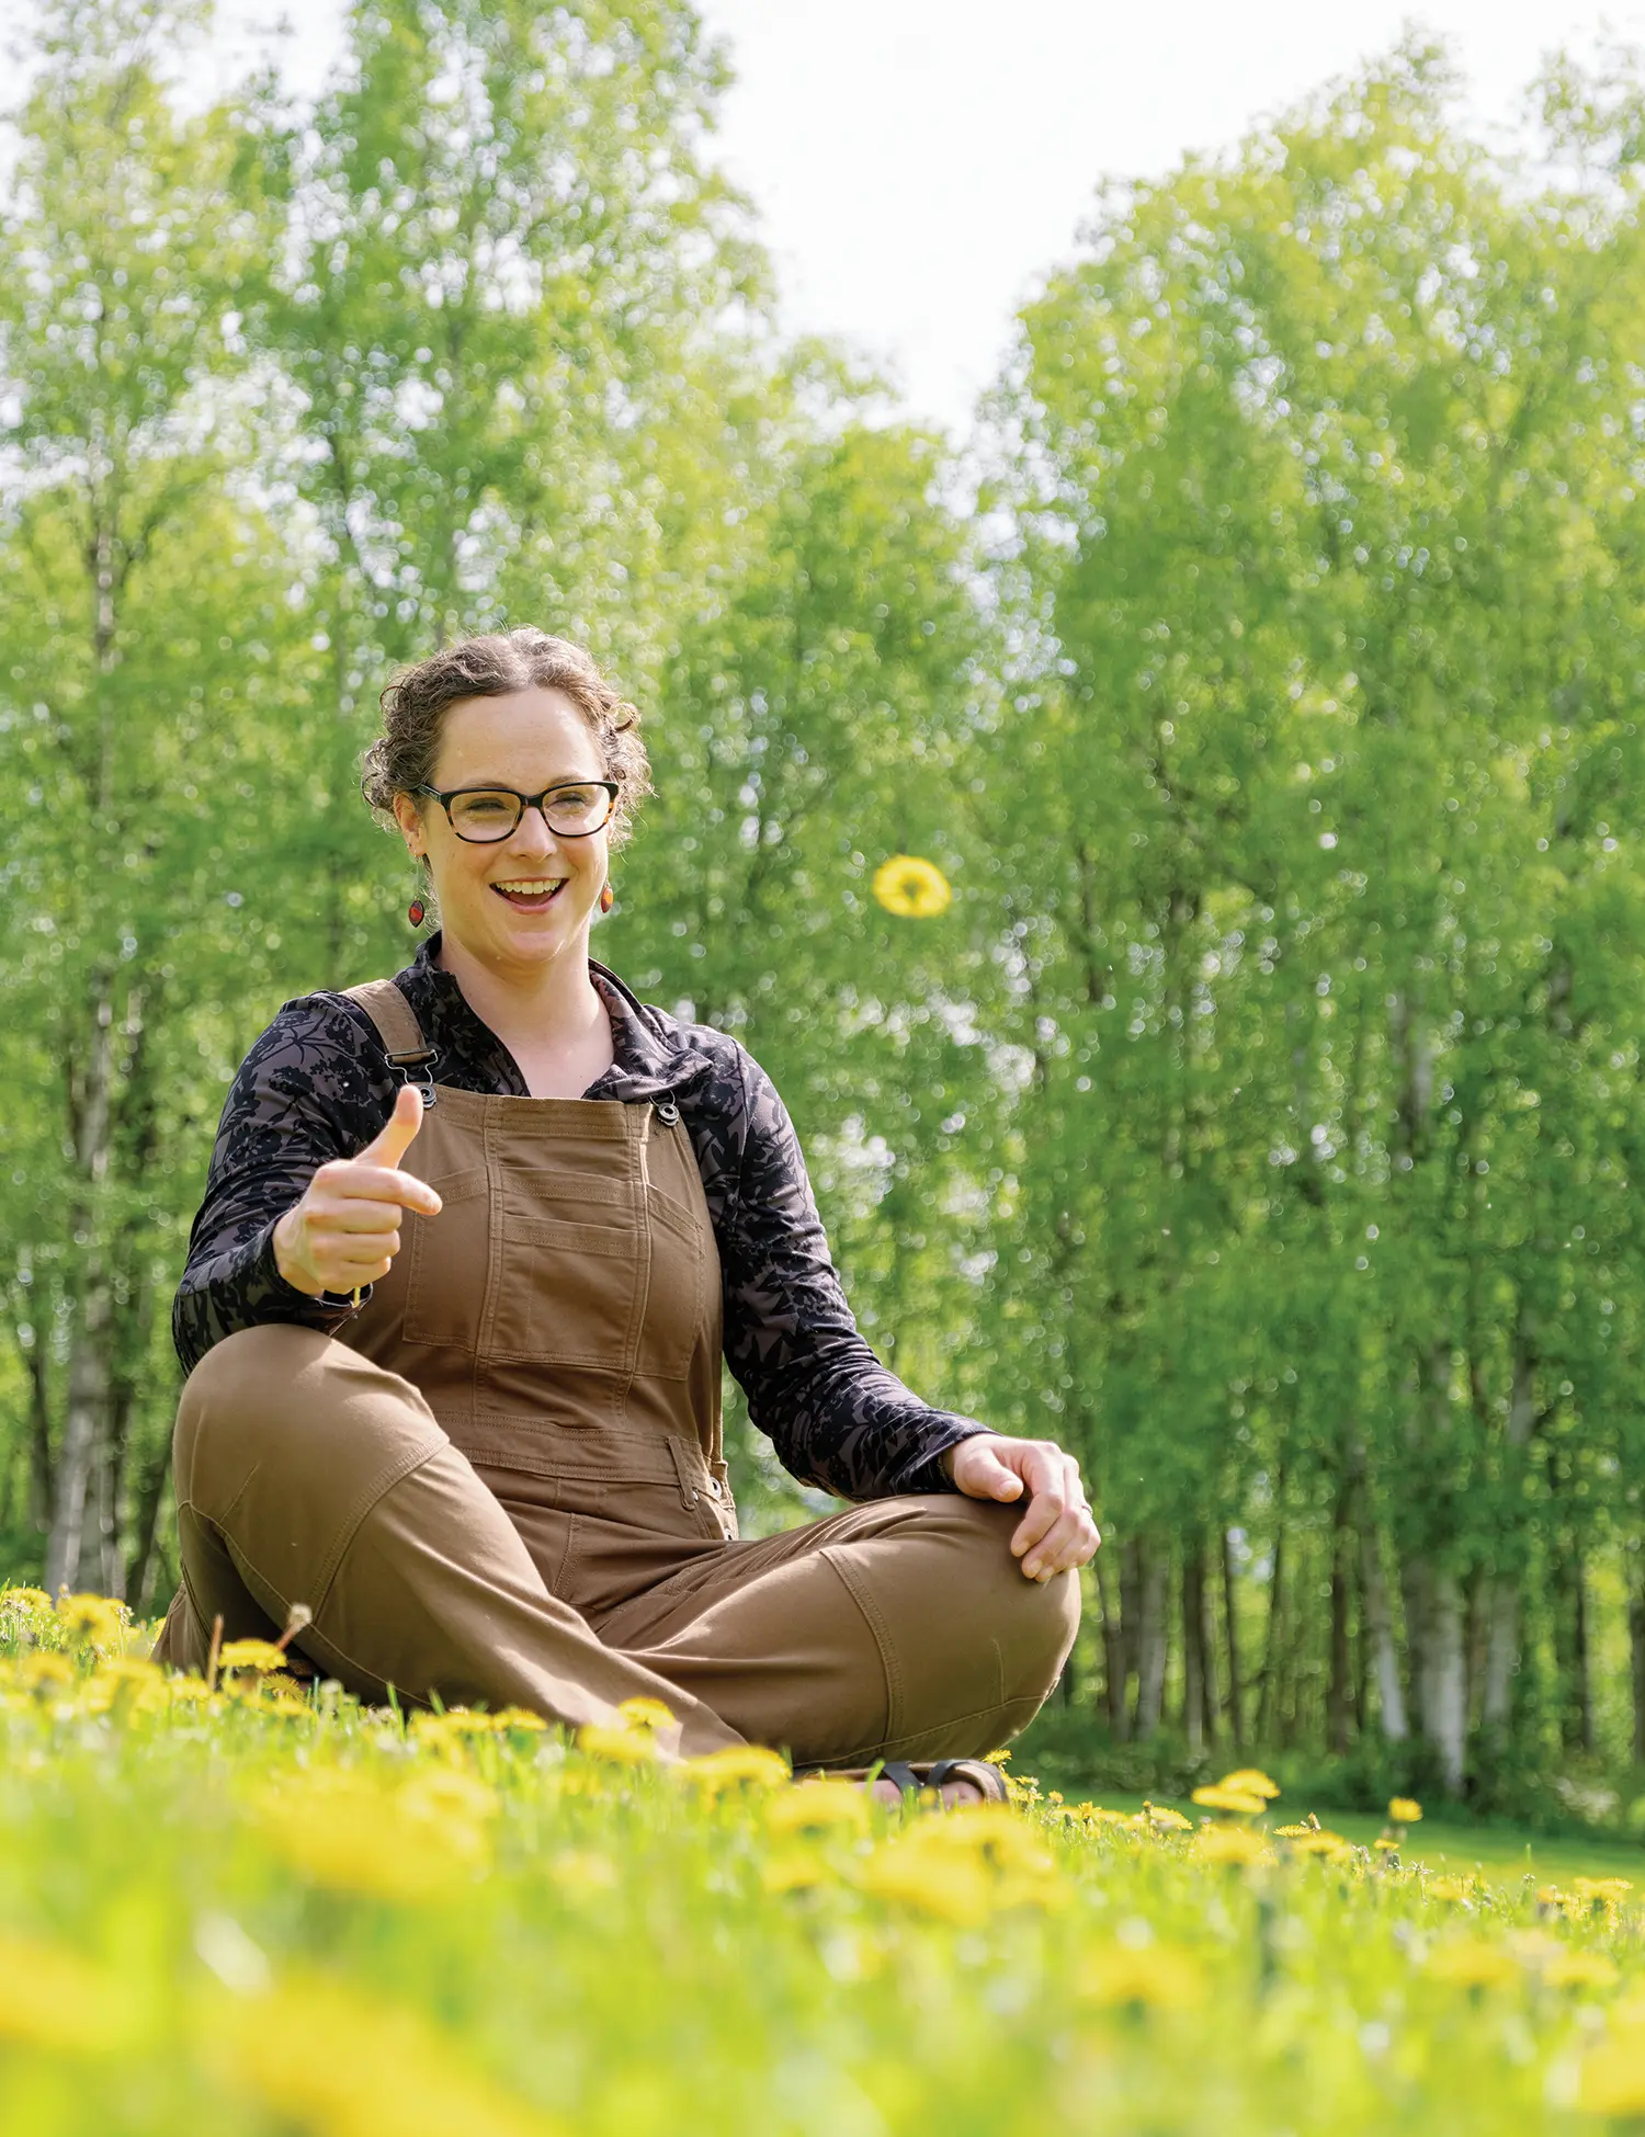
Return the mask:
{"type": "Polygon", "coordinates": [[[902,1787],[1019,1731],[1096,1549],[1079,1470],[878,1363],[767,1077],[590,962],[649,791],[632,705],[562,639],[470,639],[385,692],[363,789],[442,932],[286,1002],[229,1092],[173,1321],[160,1658],[301,1605],[367,1699],[652,1697],[671,1750],[902,1787]],[[737,1541],[722,1351],[786,1466],[859,1504],[737,1541]]]}

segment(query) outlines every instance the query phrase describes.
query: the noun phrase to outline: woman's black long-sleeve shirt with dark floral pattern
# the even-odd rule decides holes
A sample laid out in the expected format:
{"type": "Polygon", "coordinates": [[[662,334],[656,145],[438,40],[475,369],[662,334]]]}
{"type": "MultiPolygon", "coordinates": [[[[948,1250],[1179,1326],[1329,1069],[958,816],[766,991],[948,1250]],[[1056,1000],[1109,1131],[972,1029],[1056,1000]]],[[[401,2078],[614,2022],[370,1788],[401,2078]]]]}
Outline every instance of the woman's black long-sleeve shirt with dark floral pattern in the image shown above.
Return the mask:
{"type": "MultiPolygon", "coordinates": [[[[434,936],[395,974],[438,1051],[434,1077],[530,1096],[513,1054],[440,970],[438,947],[434,936]]],[[[726,1363],[754,1425],[801,1483],[842,1498],[951,1489],[938,1455],[987,1428],[921,1402],[863,1342],[771,1079],[735,1039],[639,1002],[592,960],[590,979],[615,1060],[583,1096],[679,1107],[720,1246],[726,1363]]],[[[293,1289],[273,1261],[273,1227],[320,1165],[372,1141],[397,1083],[372,1019],[340,994],[286,1002],[256,1041],[222,1109],[171,1316],[186,1372],[263,1321],[348,1340],[355,1308],[293,1289]]]]}

